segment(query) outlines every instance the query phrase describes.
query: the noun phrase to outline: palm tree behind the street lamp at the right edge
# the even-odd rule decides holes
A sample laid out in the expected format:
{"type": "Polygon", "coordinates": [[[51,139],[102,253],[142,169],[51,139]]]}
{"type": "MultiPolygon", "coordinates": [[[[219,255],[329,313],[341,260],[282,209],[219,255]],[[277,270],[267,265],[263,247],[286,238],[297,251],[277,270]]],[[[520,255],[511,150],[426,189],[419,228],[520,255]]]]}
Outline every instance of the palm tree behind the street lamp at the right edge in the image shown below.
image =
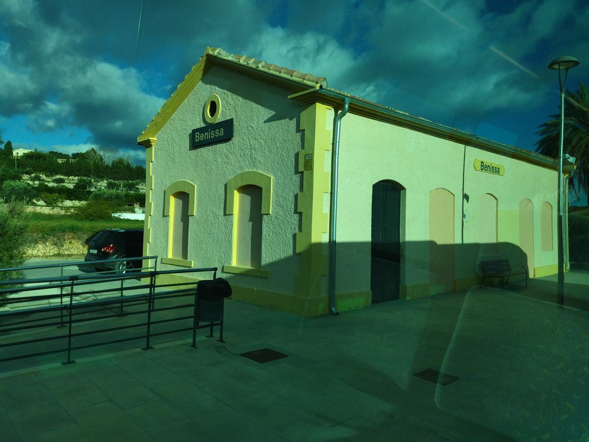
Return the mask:
{"type": "MultiPolygon", "coordinates": [[[[563,153],[577,158],[577,172],[570,186],[579,197],[579,190],[587,194],[589,190],[589,88],[579,83],[575,93],[567,90],[564,107],[564,146],[563,153]]],[[[559,106],[560,107],[560,106],[559,106]]],[[[550,116],[551,120],[541,124],[537,135],[536,151],[543,155],[558,158],[560,150],[560,113],[550,116]]]]}

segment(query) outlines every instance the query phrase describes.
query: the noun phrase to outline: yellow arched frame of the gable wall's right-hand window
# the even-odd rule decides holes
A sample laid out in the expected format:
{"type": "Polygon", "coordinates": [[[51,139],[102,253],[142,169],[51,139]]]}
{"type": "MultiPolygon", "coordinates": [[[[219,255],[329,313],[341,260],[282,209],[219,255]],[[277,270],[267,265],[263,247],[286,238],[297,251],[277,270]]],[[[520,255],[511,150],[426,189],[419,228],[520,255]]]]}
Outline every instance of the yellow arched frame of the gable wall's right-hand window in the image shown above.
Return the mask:
{"type": "Polygon", "coordinates": [[[260,276],[269,278],[269,271],[261,268],[244,267],[237,265],[237,240],[238,225],[237,213],[239,213],[239,190],[245,186],[257,186],[262,189],[261,215],[272,213],[272,177],[259,171],[244,171],[234,176],[227,182],[225,194],[225,215],[233,215],[233,242],[231,250],[231,265],[224,265],[224,273],[237,273],[239,275],[260,276]]]}

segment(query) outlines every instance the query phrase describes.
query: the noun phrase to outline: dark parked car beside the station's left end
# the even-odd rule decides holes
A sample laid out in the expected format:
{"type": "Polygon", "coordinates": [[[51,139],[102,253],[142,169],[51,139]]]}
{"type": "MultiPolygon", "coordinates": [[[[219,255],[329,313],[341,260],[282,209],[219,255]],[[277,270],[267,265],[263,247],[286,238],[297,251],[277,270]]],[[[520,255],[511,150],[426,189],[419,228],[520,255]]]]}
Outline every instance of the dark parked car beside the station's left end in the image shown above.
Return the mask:
{"type": "MultiPolygon", "coordinates": [[[[87,240],[86,262],[143,256],[143,229],[100,230],[87,240]]],[[[140,259],[101,262],[92,267],[125,273],[141,268],[140,259]]]]}

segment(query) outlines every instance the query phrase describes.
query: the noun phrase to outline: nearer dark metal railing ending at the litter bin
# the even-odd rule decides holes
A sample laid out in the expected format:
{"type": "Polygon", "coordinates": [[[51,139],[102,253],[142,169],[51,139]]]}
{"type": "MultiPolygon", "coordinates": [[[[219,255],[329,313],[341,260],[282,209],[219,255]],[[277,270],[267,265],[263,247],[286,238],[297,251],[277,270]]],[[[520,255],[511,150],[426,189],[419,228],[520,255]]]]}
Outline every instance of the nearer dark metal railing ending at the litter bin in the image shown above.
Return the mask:
{"type": "MultiPolygon", "coordinates": [[[[16,316],[16,315],[22,315],[22,314],[32,315],[32,314],[42,314],[44,312],[48,312],[49,314],[51,314],[52,311],[58,311],[58,310],[63,313],[65,310],[65,312],[67,312],[67,318],[68,318],[66,321],[67,324],[65,324],[68,326],[67,334],[44,336],[42,338],[37,338],[37,339],[25,339],[24,341],[17,341],[17,342],[8,342],[8,343],[0,344],[0,348],[18,347],[19,345],[34,344],[35,342],[41,342],[41,341],[58,341],[59,339],[65,339],[65,338],[68,339],[67,348],[58,348],[58,349],[53,349],[53,350],[48,350],[48,351],[42,351],[42,352],[30,353],[30,354],[21,354],[21,355],[16,355],[16,356],[13,355],[12,357],[0,359],[0,362],[67,351],[67,361],[62,362],[62,364],[72,364],[75,362],[71,359],[72,350],[97,347],[99,345],[115,344],[117,342],[133,341],[135,339],[143,339],[143,338],[146,339],[145,347],[143,349],[150,349],[150,348],[153,348],[150,346],[150,338],[151,337],[170,334],[170,333],[176,333],[176,332],[182,332],[182,331],[188,331],[188,330],[191,330],[193,332],[193,347],[196,347],[196,330],[199,328],[209,328],[210,327],[210,329],[211,329],[210,336],[212,336],[213,326],[216,326],[216,325],[220,326],[220,339],[219,340],[221,342],[224,342],[223,341],[223,314],[222,314],[223,308],[222,308],[222,306],[221,306],[221,319],[219,321],[211,322],[210,324],[204,324],[204,325],[200,325],[200,323],[198,322],[196,290],[186,288],[186,285],[195,285],[197,283],[197,281],[195,281],[195,282],[183,281],[183,282],[179,282],[179,283],[163,284],[163,285],[161,285],[161,287],[184,286],[184,288],[177,289],[177,290],[167,290],[164,292],[157,293],[158,299],[171,299],[171,298],[181,298],[183,296],[190,296],[191,298],[194,298],[193,302],[190,302],[187,304],[182,303],[182,304],[173,305],[173,306],[164,306],[164,307],[160,307],[157,309],[155,308],[155,305],[154,305],[155,289],[158,288],[158,286],[155,283],[155,279],[157,278],[157,276],[178,274],[178,273],[213,272],[213,279],[215,279],[216,275],[217,275],[217,270],[218,269],[216,267],[211,267],[211,268],[202,268],[202,269],[183,269],[183,270],[177,270],[177,271],[148,271],[148,272],[138,272],[138,273],[134,273],[134,274],[130,273],[130,274],[125,274],[125,275],[117,275],[117,276],[113,276],[110,278],[98,278],[98,279],[90,279],[90,278],[92,278],[91,275],[81,275],[81,276],[74,275],[74,276],[59,277],[59,278],[55,278],[55,277],[54,278],[37,278],[35,280],[37,282],[63,281],[64,283],[60,284],[59,286],[64,286],[64,285],[70,286],[72,290],[68,296],[70,298],[68,304],[66,304],[66,305],[60,304],[60,305],[56,305],[56,306],[47,306],[47,307],[39,307],[39,308],[29,308],[29,309],[24,309],[24,310],[20,310],[20,311],[0,312],[0,320],[6,319],[10,316],[16,316]],[[139,288],[141,288],[141,289],[148,289],[148,293],[141,293],[139,295],[124,295],[121,298],[107,298],[107,299],[97,299],[95,301],[74,302],[73,288],[76,285],[84,285],[87,283],[97,282],[97,281],[107,282],[107,281],[112,281],[113,279],[115,281],[118,281],[118,280],[124,281],[124,279],[137,278],[137,276],[140,276],[141,278],[149,278],[148,284],[144,284],[144,285],[139,286],[139,288]],[[67,283],[66,283],[66,281],[67,281],[67,283]],[[107,315],[107,316],[91,315],[90,318],[83,316],[83,315],[88,315],[88,314],[98,311],[98,310],[86,311],[88,308],[93,308],[94,306],[108,306],[108,305],[114,305],[114,304],[121,305],[121,314],[123,312],[123,304],[135,305],[135,306],[141,305],[141,304],[147,304],[147,310],[140,309],[139,311],[127,311],[124,314],[124,316],[147,314],[147,318],[146,318],[147,321],[139,322],[138,324],[126,324],[126,325],[122,325],[122,326],[115,326],[115,327],[111,326],[111,327],[102,328],[102,329],[94,329],[91,331],[72,332],[72,326],[74,324],[80,325],[80,324],[85,324],[85,323],[88,323],[91,321],[96,321],[97,319],[108,319],[108,318],[115,318],[115,317],[121,316],[118,314],[111,314],[111,315],[107,315]],[[155,319],[155,320],[152,318],[152,315],[154,312],[170,311],[170,310],[174,310],[174,309],[181,309],[181,308],[188,308],[188,307],[194,307],[193,315],[190,315],[190,316],[182,315],[180,317],[175,317],[175,318],[155,319]],[[167,331],[161,331],[161,332],[153,332],[151,330],[151,326],[155,325],[155,324],[164,324],[166,322],[173,322],[173,321],[180,321],[180,320],[187,320],[187,319],[193,319],[193,325],[189,328],[184,327],[184,328],[180,328],[180,329],[167,330],[167,331]],[[72,345],[72,338],[78,338],[78,337],[82,337],[82,336],[86,336],[86,335],[100,334],[103,332],[118,331],[118,330],[123,330],[123,329],[127,329],[127,328],[139,328],[142,326],[146,327],[146,332],[144,335],[134,336],[134,337],[130,337],[130,338],[123,338],[123,339],[115,339],[115,340],[111,340],[111,341],[93,342],[93,343],[90,343],[87,345],[77,345],[77,346],[72,345]]],[[[15,281],[2,281],[2,282],[0,282],[0,285],[10,285],[10,284],[14,285],[14,283],[16,281],[17,280],[15,280],[15,281]]],[[[27,280],[18,280],[18,281],[27,281],[27,280]]],[[[31,282],[31,281],[29,280],[28,282],[31,282]]],[[[32,287],[32,288],[27,288],[27,289],[45,289],[45,288],[47,288],[47,286],[37,286],[37,287],[32,287]]],[[[138,287],[135,286],[135,287],[127,287],[125,289],[137,289],[137,288],[138,287]]],[[[13,290],[14,289],[0,289],[0,294],[12,292],[13,290]]],[[[106,292],[106,291],[112,291],[112,289],[107,289],[104,291],[94,290],[94,291],[88,291],[88,292],[95,293],[95,292],[106,292]]],[[[18,298],[18,302],[22,302],[22,301],[26,301],[26,300],[30,301],[33,299],[41,299],[41,298],[42,299],[51,299],[51,298],[57,299],[57,298],[60,298],[61,296],[62,296],[61,294],[42,295],[42,296],[27,296],[25,298],[18,298]]],[[[6,301],[13,301],[13,300],[8,299],[6,301]]],[[[32,319],[29,321],[12,322],[11,324],[0,325],[0,333],[22,331],[22,330],[27,330],[27,329],[40,329],[41,327],[59,325],[60,323],[55,322],[55,321],[49,322],[49,323],[45,322],[44,324],[39,324],[40,321],[47,321],[47,320],[51,321],[54,319],[58,319],[59,317],[60,316],[49,316],[47,318],[32,319]],[[34,324],[31,325],[31,323],[34,323],[34,324]]],[[[63,318],[63,315],[61,315],[61,318],[63,318]]],[[[1,321],[0,324],[2,322],[4,322],[4,321],[1,321]]],[[[61,325],[63,326],[64,324],[61,324],[61,325]]]]}

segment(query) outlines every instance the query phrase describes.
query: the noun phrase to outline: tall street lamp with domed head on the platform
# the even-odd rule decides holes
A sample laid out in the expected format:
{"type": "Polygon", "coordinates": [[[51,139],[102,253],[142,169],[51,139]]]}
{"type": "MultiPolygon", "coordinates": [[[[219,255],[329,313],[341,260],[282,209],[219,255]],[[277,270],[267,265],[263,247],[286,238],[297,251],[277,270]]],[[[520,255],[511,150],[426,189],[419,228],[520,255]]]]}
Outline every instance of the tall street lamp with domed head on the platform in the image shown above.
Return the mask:
{"type": "Polygon", "coordinates": [[[560,150],[558,151],[558,304],[564,304],[564,254],[562,253],[562,144],[564,142],[564,87],[567,84],[568,70],[579,64],[574,57],[558,57],[550,62],[548,69],[558,70],[558,85],[560,85],[560,150]],[[564,69],[564,83],[560,71],[564,69]]]}

